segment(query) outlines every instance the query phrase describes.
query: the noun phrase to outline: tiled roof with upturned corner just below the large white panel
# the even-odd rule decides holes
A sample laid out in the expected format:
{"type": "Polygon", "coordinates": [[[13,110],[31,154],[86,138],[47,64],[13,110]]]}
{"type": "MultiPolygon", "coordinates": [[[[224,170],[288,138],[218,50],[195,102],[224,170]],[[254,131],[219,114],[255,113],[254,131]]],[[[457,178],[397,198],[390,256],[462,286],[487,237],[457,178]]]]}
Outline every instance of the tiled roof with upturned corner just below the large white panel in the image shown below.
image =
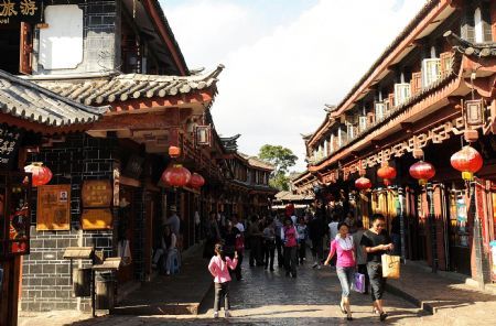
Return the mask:
{"type": "Polygon", "coordinates": [[[217,77],[223,69],[224,66],[219,65],[208,74],[194,76],[127,74],[74,80],[33,78],[33,82],[61,96],[89,106],[175,96],[208,88],[216,91],[217,77]]]}

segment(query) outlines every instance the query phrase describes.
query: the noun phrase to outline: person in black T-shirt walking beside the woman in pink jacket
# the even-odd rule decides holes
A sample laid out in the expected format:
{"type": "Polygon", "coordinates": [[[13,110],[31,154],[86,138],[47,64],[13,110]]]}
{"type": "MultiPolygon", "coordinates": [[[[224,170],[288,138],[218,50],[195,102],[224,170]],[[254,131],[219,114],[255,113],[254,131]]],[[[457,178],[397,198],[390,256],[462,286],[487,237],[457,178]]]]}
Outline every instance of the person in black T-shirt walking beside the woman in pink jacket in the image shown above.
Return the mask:
{"type": "Polygon", "coordinates": [[[386,219],[381,214],[375,214],[371,217],[371,228],[364,232],[360,244],[365,247],[367,252],[367,273],[370,279],[371,298],[374,311],[380,314],[380,320],[387,318],[387,314],[382,309],[382,294],[386,279],[382,278],[382,265],[380,264],[381,256],[392,250],[393,246],[387,231],[386,219]]]}

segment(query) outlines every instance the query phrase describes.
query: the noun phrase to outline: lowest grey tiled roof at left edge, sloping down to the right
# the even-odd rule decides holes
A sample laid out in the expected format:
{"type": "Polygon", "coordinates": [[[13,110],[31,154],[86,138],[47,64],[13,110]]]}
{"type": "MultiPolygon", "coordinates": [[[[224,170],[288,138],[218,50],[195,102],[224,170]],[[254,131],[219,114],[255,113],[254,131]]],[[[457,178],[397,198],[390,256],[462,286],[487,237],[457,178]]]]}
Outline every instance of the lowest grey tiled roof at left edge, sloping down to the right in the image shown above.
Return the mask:
{"type": "Polygon", "coordinates": [[[46,126],[89,123],[107,111],[74,102],[33,83],[0,70],[0,111],[46,126]]]}

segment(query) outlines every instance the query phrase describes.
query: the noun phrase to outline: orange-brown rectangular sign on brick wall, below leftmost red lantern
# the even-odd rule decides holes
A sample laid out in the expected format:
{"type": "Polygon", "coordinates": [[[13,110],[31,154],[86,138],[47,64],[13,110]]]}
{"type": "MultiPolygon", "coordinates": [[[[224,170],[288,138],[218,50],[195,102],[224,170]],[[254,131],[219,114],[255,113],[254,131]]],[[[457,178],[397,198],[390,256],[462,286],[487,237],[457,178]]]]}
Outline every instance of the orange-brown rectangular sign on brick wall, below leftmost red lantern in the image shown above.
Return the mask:
{"type": "Polygon", "coordinates": [[[36,230],[71,229],[71,185],[37,187],[36,230]]]}

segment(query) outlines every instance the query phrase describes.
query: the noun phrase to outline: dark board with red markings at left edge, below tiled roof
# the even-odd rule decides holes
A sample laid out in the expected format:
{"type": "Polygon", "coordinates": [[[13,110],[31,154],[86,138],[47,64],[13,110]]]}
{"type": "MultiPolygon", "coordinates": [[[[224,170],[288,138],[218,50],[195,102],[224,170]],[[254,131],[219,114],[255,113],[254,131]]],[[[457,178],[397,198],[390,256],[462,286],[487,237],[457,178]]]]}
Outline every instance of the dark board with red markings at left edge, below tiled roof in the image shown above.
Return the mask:
{"type": "Polygon", "coordinates": [[[28,174],[0,172],[0,259],[30,253],[28,174]]]}

